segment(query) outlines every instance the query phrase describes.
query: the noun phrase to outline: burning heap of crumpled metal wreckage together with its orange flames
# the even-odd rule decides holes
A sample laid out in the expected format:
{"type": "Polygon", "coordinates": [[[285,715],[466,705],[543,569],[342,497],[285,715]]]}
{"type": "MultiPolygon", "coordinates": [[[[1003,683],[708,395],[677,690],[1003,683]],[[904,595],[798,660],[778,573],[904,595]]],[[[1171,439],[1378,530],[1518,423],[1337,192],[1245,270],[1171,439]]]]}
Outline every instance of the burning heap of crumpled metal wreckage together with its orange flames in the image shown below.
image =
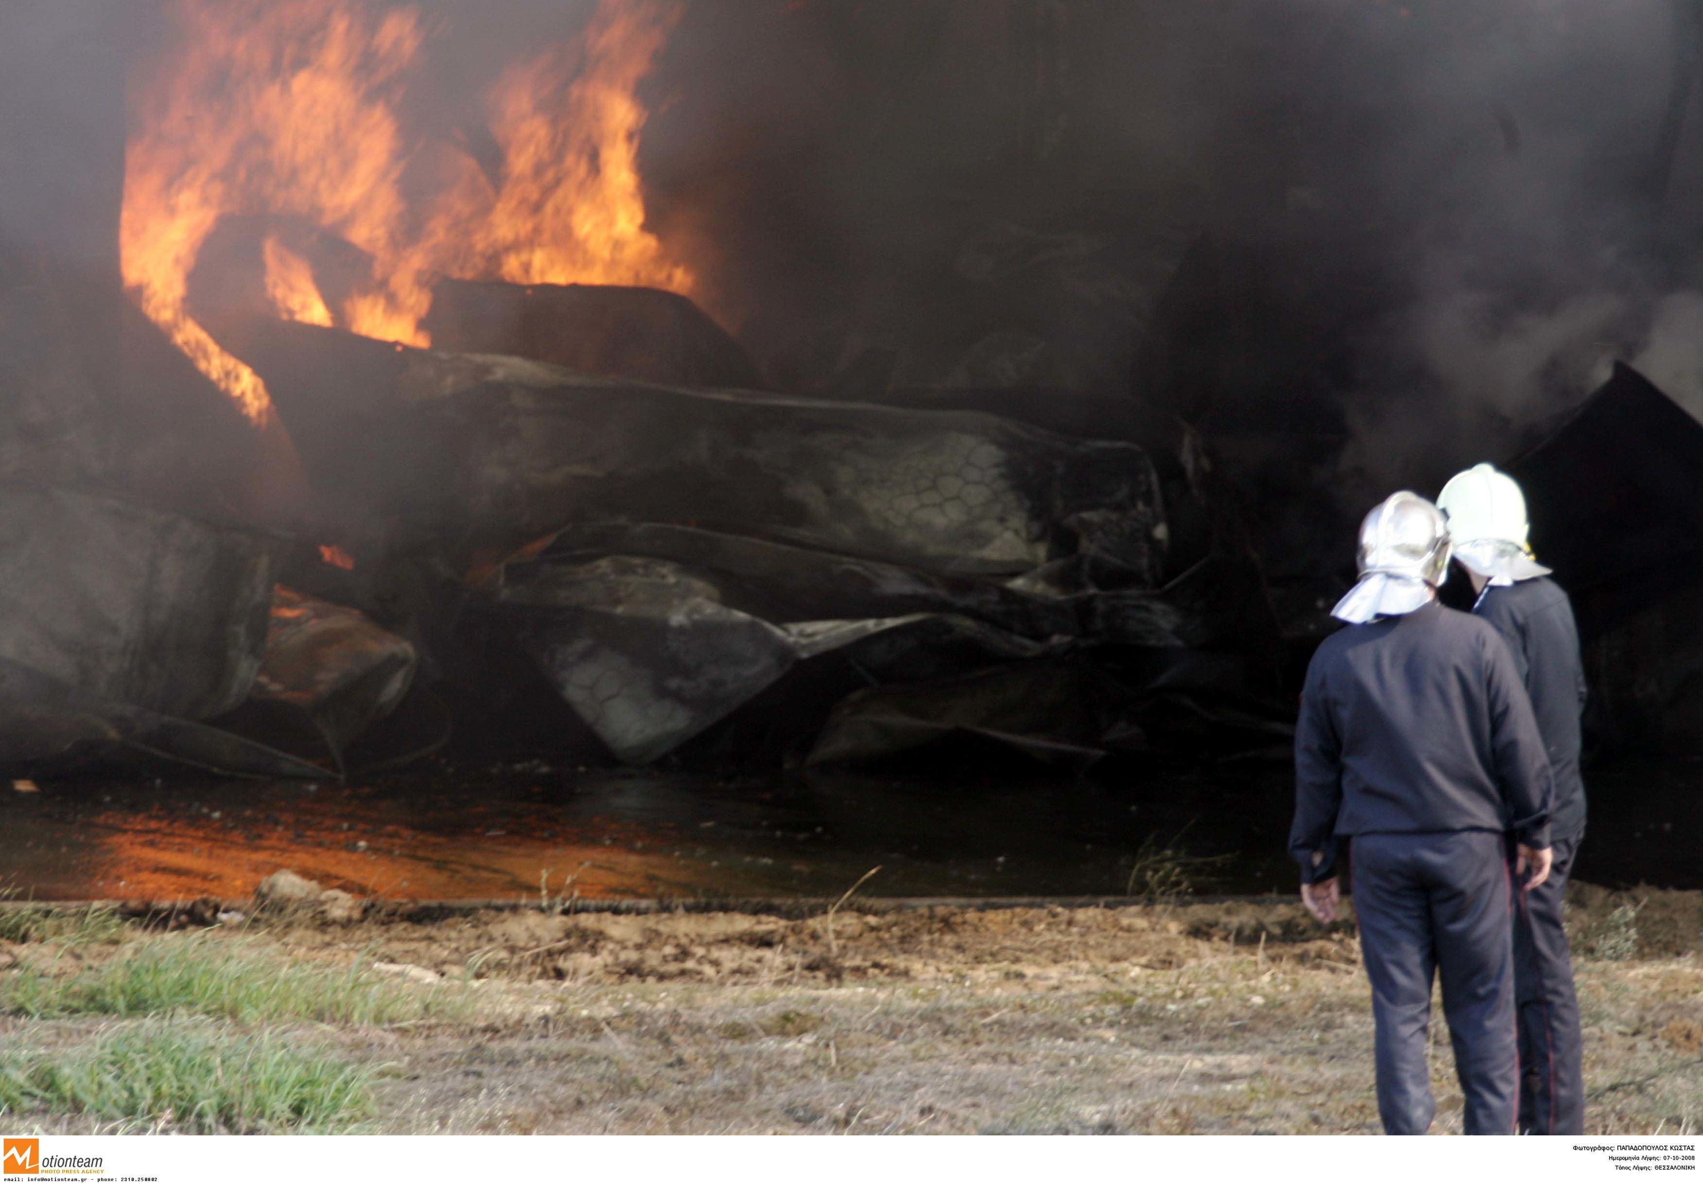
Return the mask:
{"type": "Polygon", "coordinates": [[[933,405],[771,394],[645,228],[635,90],[678,7],[599,0],[448,140],[402,116],[409,9],[169,12],[124,162],[119,429],[61,365],[63,310],[7,322],[41,404],[7,472],[49,482],[9,503],[9,762],[324,777],[516,693],[634,763],[974,738],[1087,767],[1163,748],[1138,717],[1178,710],[1267,743],[1230,709],[1259,678],[1207,656],[1272,630],[1197,441],[1010,399],[1104,385],[1083,366],[1187,233],[1127,273],[1000,221],[949,271],[1029,312],[989,336],[967,307],[962,365],[889,368],[943,380],[933,405]]]}

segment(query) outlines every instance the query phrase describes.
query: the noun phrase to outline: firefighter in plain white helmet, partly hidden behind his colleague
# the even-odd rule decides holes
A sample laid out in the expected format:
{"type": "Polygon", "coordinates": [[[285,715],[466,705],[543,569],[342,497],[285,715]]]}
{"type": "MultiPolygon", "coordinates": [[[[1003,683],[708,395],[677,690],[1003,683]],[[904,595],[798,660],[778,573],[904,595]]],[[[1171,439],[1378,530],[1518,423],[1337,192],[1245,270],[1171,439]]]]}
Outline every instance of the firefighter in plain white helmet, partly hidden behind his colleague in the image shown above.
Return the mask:
{"type": "Polygon", "coordinates": [[[1579,775],[1579,717],[1585,704],[1584,661],[1574,606],[1528,549],[1526,497],[1490,465],[1458,474],[1437,497],[1454,559],[1478,591],[1473,615],[1490,622],[1519,670],[1555,770],[1550,831],[1555,864],[1541,888],[1522,893],[1514,913],[1514,998],[1519,1009],[1519,1129],[1582,1135],[1585,1123],[1582,1039],[1574,966],[1562,927],[1562,896],[1585,831],[1579,775]]]}

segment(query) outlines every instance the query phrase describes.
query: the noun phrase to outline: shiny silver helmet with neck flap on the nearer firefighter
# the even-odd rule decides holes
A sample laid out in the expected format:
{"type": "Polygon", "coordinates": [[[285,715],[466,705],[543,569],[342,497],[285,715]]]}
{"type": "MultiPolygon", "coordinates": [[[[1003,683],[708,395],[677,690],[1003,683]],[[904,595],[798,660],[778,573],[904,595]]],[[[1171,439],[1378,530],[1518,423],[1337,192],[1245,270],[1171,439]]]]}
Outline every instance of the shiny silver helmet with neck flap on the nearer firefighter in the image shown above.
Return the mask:
{"type": "Polygon", "coordinates": [[[1361,579],[1332,617],[1364,624],[1429,605],[1449,571],[1449,528],[1415,492],[1390,494],[1361,523],[1361,579]]]}

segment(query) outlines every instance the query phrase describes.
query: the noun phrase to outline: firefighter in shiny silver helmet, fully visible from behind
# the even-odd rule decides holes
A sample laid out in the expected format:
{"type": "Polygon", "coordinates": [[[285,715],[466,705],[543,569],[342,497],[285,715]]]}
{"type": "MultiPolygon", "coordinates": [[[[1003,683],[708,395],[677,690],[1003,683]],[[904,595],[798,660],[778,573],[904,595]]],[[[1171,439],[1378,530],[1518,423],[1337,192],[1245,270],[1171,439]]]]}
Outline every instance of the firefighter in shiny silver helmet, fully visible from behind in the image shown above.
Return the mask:
{"type": "Polygon", "coordinates": [[[1318,647],[1296,727],[1289,850],[1301,899],[1337,915],[1342,843],[1376,1020],[1378,1112],[1422,1135],[1436,1102],[1425,1060],[1431,983],[1466,1099],[1468,1135],[1512,1135],[1514,886],[1550,865],[1550,762],[1507,646],[1437,603],[1449,564],[1442,514],[1393,494],[1361,526],[1359,583],[1332,610],[1349,622],[1318,647]]]}

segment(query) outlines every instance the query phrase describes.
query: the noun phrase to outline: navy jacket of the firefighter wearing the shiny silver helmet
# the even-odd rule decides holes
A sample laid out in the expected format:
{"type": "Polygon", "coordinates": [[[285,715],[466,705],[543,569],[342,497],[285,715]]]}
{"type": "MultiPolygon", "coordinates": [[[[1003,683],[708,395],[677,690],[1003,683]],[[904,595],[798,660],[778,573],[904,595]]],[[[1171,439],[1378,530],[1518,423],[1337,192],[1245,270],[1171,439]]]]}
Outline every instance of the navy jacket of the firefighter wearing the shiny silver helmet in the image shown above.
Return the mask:
{"type": "Polygon", "coordinates": [[[1335,874],[1337,836],[1512,830],[1550,845],[1550,760],[1502,637],[1437,603],[1323,641],[1294,734],[1289,852],[1335,874]]]}

